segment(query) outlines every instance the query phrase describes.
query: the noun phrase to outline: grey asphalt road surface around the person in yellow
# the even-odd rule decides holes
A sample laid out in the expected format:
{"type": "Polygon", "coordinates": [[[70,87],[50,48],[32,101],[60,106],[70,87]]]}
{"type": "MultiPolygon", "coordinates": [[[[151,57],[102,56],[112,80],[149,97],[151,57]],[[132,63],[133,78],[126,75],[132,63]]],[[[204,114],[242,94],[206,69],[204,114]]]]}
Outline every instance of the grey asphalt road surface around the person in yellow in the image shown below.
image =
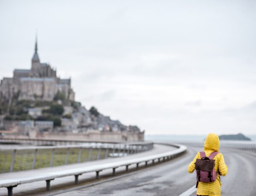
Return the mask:
{"type": "MultiPolygon", "coordinates": [[[[179,196],[196,183],[195,173],[189,174],[187,166],[200,150],[188,147],[186,154],[174,160],[58,196],[179,196]]],[[[221,195],[256,196],[256,154],[240,150],[221,153],[229,168],[227,176],[221,177],[221,195]]]]}

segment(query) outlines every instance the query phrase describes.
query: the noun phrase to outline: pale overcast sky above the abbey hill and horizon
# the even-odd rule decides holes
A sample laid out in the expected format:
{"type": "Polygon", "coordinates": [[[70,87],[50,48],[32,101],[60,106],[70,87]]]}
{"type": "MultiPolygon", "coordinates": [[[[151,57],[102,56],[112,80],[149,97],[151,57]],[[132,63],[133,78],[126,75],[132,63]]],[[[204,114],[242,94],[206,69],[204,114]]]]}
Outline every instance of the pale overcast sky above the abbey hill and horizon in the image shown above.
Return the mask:
{"type": "Polygon", "coordinates": [[[256,133],[255,0],[0,0],[0,78],[38,55],[147,134],[256,133]]]}

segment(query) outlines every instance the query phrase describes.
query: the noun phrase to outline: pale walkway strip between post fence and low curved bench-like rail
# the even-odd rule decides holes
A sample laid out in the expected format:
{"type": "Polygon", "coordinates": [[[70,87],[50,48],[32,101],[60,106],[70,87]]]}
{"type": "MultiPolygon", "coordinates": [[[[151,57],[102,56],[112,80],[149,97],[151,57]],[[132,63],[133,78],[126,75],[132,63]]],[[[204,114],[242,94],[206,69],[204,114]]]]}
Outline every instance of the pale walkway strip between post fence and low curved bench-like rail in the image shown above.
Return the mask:
{"type": "MultiPolygon", "coordinates": [[[[140,158],[143,156],[150,156],[155,155],[158,153],[165,153],[169,152],[171,150],[175,150],[175,147],[166,146],[166,145],[159,145],[155,144],[154,148],[152,150],[143,152],[143,153],[137,153],[130,156],[120,157],[120,158],[110,158],[110,159],[102,159],[98,161],[89,161],[85,163],[79,163],[79,164],[70,164],[70,165],[64,165],[64,166],[58,166],[58,167],[48,167],[48,168],[41,168],[36,170],[26,170],[26,171],[19,171],[19,172],[13,172],[13,173],[2,173],[0,174],[0,179],[9,179],[13,178],[14,176],[17,177],[26,177],[29,175],[38,175],[40,173],[44,172],[50,172],[50,171],[59,171],[59,170],[66,170],[66,169],[72,169],[77,167],[88,167],[94,164],[104,164],[109,163],[112,161],[120,161],[125,159],[134,159],[134,158],[140,158]]],[[[129,169],[134,169],[134,166],[129,167],[129,169]]],[[[116,169],[116,173],[118,174],[119,171],[123,171],[125,167],[119,167],[116,169]]],[[[105,178],[112,177],[112,169],[110,170],[103,170],[100,173],[100,180],[103,180],[105,178]]],[[[79,176],[79,185],[81,184],[88,184],[91,182],[94,182],[95,180],[95,172],[93,173],[85,173],[81,176],[79,176]]],[[[63,178],[57,178],[53,181],[51,181],[51,191],[46,191],[46,182],[40,181],[40,182],[34,182],[34,183],[28,183],[28,184],[20,184],[17,187],[13,189],[14,196],[40,196],[40,195],[47,195],[49,193],[55,193],[56,191],[65,190],[67,188],[74,187],[74,176],[67,176],[63,178]]],[[[76,185],[77,186],[77,185],[76,185]]],[[[0,196],[6,196],[7,189],[6,188],[0,188],[0,196]]]]}

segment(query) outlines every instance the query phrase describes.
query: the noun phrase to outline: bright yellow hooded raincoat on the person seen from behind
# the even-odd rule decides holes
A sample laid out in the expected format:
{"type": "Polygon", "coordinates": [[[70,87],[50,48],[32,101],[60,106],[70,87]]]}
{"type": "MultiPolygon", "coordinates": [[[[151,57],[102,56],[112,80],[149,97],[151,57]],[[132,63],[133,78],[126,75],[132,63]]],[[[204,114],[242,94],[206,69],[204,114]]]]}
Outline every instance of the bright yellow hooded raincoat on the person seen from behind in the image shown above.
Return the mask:
{"type": "MultiPolygon", "coordinates": [[[[218,152],[220,148],[220,141],[218,135],[209,133],[204,141],[204,152],[206,156],[209,156],[212,152],[218,152]]],[[[194,160],[189,164],[188,172],[192,173],[195,170],[196,159],[201,159],[200,152],[197,153],[194,160]]],[[[221,181],[220,176],[226,176],[227,165],[225,164],[224,157],[221,153],[218,153],[214,158],[215,160],[215,171],[217,178],[215,182],[199,182],[196,194],[198,196],[221,196],[221,181]]]]}

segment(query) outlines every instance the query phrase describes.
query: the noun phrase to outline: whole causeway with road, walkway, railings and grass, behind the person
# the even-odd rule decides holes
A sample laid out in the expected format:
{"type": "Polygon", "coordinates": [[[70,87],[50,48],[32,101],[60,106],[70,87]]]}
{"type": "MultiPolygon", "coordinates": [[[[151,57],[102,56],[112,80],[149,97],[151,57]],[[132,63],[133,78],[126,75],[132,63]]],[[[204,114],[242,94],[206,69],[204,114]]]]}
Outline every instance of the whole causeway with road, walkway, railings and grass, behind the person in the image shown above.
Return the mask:
{"type": "MultiPolygon", "coordinates": [[[[203,142],[195,141],[0,138],[0,161],[6,161],[0,164],[0,196],[195,196],[195,173],[189,174],[187,166],[202,149],[203,142]],[[20,143],[23,146],[15,145],[20,143]],[[48,152],[48,159],[43,152],[48,152]]],[[[229,167],[221,178],[222,196],[255,196],[256,143],[221,141],[220,152],[229,167]]]]}

